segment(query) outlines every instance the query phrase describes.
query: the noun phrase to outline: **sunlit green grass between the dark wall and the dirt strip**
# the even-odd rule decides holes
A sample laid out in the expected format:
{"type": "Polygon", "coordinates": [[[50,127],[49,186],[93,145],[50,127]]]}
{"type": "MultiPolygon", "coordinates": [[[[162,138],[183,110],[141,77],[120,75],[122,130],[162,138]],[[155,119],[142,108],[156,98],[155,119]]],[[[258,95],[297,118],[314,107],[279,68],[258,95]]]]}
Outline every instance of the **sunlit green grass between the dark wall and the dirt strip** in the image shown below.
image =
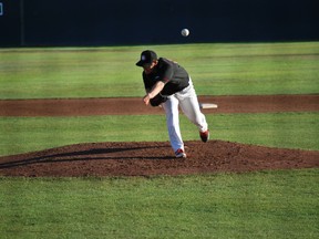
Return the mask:
{"type": "Polygon", "coordinates": [[[0,50],[0,98],[142,96],[141,51],[178,61],[199,95],[318,94],[319,42],[0,50]]]}

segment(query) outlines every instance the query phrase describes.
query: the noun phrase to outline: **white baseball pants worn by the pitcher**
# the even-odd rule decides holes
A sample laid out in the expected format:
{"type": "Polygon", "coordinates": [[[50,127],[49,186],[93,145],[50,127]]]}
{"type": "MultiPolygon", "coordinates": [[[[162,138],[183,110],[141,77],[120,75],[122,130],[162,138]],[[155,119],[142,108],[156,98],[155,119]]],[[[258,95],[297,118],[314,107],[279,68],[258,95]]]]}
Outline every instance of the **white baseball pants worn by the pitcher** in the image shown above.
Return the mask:
{"type": "Polygon", "coordinates": [[[162,105],[166,113],[166,125],[174,152],[178,148],[184,150],[184,142],[179,128],[178,105],[187,118],[195,124],[200,132],[208,129],[205,115],[200,112],[197,95],[191,77],[189,85],[186,89],[169,95],[168,100],[162,105]]]}

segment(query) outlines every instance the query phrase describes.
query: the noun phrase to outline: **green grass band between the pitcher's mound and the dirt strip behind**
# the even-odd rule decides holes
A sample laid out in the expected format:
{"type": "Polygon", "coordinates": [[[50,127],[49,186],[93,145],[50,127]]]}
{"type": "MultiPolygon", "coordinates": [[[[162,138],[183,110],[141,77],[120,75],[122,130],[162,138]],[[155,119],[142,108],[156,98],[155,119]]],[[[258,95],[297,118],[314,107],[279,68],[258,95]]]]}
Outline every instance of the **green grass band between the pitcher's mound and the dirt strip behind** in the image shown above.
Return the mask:
{"type": "MultiPolygon", "coordinates": [[[[319,150],[319,113],[206,115],[212,139],[319,150]]],[[[181,116],[184,141],[197,128],[181,116]]],[[[0,117],[0,155],[94,142],[168,141],[165,115],[0,117]],[[156,125],[156,127],[154,127],[156,125]]]]}

